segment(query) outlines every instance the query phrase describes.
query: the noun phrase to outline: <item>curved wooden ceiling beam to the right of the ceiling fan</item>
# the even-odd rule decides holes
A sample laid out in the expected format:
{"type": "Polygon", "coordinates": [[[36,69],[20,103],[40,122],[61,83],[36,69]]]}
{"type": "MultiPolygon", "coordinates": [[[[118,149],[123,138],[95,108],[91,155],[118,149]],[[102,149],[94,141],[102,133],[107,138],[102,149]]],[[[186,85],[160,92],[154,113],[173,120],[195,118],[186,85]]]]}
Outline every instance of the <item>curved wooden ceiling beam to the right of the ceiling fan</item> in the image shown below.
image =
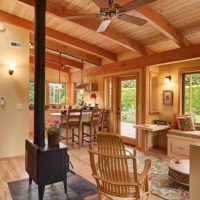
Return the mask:
{"type": "MultiPolygon", "coordinates": [[[[130,1],[132,0],[119,0],[119,3],[126,4],[130,1]]],[[[150,6],[142,6],[137,8],[136,11],[138,12],[138,17],[146,19],[153,27],[169,39],[173,40],[178,46],[185,47],[191,45],[187,38],[185,38],[174,26],[172,26],[172,24],[150,6]]]]}

